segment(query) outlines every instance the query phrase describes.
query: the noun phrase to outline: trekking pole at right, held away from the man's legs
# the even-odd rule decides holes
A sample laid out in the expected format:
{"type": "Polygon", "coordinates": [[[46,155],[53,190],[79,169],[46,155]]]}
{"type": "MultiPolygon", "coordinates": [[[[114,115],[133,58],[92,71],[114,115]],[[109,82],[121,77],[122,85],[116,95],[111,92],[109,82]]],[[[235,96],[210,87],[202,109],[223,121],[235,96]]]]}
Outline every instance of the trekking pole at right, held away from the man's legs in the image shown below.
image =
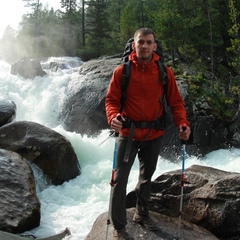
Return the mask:
{"type": "MultiPolygon", "coordinates": [[[[183,125],[183,131],[186,130],[187,125],[183,125]]],[[[184,172],[185,172],[185,155],[186,155],[186,141],[181,140],[181,150],[182,150],[182,175],[181,175],[181,197],[180,197],[180,210],[178,217],[178,237],[177,240],[180,240],[181,236],[181,221],[182,221],[182,206],[183,206],[183,188],[184,188],[184,172]]]]}

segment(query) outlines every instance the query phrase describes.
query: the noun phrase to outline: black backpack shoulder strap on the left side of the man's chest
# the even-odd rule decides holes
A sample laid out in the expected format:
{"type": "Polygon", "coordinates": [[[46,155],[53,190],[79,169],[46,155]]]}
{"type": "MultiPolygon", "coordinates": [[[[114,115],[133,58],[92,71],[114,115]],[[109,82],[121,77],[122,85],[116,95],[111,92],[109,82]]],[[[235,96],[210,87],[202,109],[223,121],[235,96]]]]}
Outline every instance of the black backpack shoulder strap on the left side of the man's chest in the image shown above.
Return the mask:
{"type": "Polygon", "coordinates": [[[129,80],[130,80],[131,67],[132,67],[132,62],[131,61],[127,61],[127,62],[123,63],[122,81],[121,81],[122,96],[121,96],[121,100],[120,100],[120,105],[121,106],[120,106],[120,109],[119,109],[120,113],[123,110],[123,105],[124,105],[124,102],[125,102],[126,97],[127,97],[126,91],[127,91],[129,80]]]}

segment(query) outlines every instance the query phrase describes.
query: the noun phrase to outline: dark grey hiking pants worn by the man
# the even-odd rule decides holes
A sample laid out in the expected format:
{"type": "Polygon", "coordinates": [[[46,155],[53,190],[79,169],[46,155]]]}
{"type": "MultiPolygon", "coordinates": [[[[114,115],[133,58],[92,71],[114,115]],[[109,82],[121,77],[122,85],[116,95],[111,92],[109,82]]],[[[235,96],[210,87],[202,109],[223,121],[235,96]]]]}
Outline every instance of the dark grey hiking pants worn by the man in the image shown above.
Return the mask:
{"type": "Polygon", "coordinates": [[[111,217],[115,229],[126,226],[126,188],[128,176],[136,155],[139,159],[139,178],[136,186],[136,212],[139,215],[148,215],[148,200],[151,191],[151,177],[156,169],[162,137],[138,142],[133,141],[128,162],[123,162],[127,138],[119,136],[116,159],[114,189],[112,195],[111,217]]]}

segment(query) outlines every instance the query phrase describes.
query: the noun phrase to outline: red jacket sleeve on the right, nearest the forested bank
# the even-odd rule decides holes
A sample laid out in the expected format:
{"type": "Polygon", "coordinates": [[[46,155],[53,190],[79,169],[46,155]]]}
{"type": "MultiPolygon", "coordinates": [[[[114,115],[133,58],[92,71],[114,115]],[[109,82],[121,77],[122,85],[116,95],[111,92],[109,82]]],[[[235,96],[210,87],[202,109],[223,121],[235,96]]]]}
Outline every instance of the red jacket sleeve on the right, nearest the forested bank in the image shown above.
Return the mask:
{"type": "Polygon", "coordinates": [[[184,101],[180,95],[174,74],[170,68],[167,67],[167,101],[173,114],[173,119],[176,127],[181,124],[189,125],[186,117],[186,110],[184,101]]]}

